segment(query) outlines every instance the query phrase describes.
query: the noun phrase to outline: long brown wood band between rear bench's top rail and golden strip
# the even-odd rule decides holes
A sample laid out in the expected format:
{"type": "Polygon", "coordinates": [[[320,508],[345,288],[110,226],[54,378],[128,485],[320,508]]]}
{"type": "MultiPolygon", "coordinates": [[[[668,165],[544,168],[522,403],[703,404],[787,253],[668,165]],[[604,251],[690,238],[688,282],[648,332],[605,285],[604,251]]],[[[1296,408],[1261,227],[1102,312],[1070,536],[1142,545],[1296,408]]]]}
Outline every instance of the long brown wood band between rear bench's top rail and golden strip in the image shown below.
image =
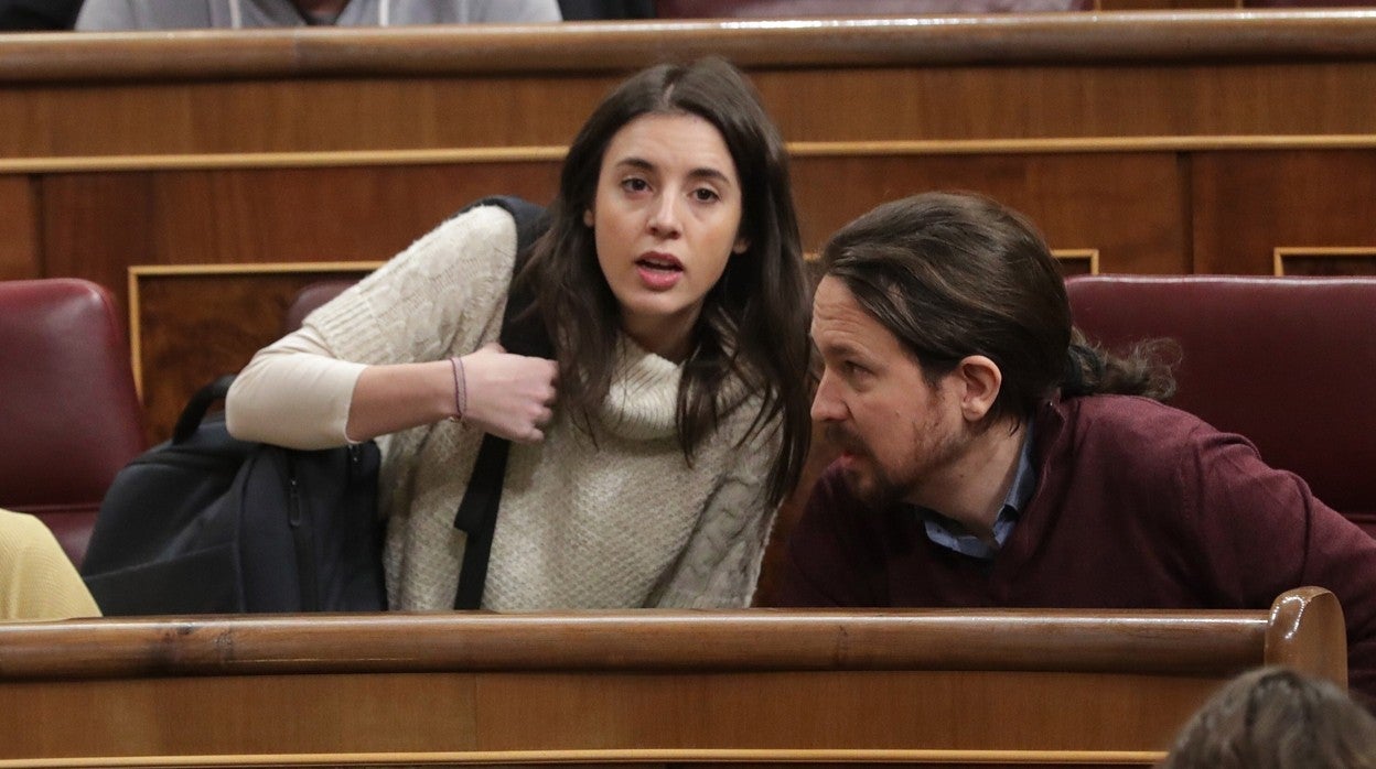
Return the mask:
{"type": "MultiPolygon", "coordinates": [[[[1369,135],[1376,125],[1376,103],[1348,98],[1376,80],[1365,61],[751,76],[794,142],[1369,135]]],[[[0,135],[0,157],[561,146],[612,83],[544,73],[0,88],[0,120],[18,127],[0,135]]]]}

